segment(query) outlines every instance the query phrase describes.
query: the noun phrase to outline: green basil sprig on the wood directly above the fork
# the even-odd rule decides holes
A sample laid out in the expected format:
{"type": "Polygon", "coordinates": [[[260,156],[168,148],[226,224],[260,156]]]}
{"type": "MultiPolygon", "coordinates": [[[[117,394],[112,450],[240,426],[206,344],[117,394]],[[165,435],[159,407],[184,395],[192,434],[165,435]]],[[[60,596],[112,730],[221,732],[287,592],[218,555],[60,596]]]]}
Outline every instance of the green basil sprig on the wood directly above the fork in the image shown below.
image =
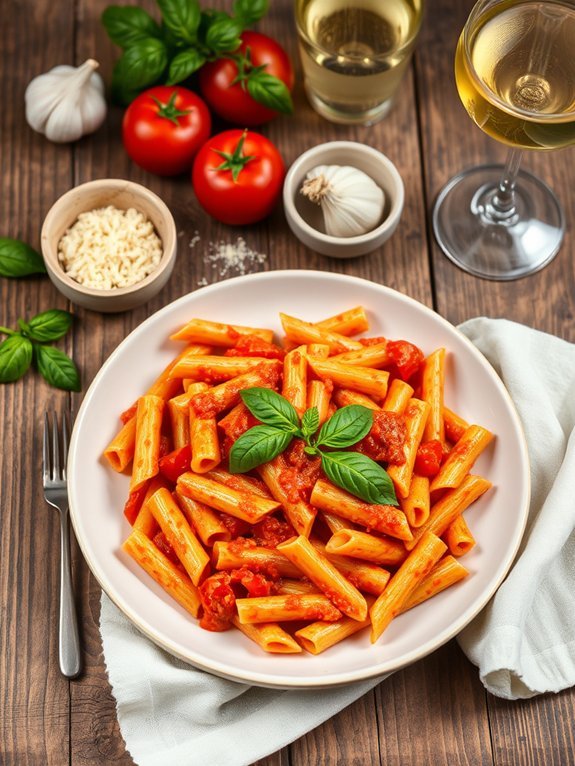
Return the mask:
{"type": "Polygon", "coordinates": [[[68,311],[50,309],[36,314],[28,322],[19,319],[18,330],[0,327],[0,333],[8,336],[0,343],[0,383],[19,380],[34,362],[51,386],[79,391],[80,374],[73,360],[47,345],[62,338],[71,324],[72,315],[68,311]]]}

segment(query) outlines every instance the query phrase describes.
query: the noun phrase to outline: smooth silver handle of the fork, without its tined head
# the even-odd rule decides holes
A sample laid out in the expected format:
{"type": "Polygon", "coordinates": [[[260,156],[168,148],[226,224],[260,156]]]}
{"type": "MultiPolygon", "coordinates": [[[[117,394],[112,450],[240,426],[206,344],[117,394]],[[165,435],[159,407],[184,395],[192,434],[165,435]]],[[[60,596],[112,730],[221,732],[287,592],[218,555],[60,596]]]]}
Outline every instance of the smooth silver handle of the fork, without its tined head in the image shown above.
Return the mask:
{"type": "Polygon", "coordinates": [[[82,669],[80,636],[70,566],[70,525],[68,510],[60,516],[60,670],[67,678],[75,678],[82,669]]]}

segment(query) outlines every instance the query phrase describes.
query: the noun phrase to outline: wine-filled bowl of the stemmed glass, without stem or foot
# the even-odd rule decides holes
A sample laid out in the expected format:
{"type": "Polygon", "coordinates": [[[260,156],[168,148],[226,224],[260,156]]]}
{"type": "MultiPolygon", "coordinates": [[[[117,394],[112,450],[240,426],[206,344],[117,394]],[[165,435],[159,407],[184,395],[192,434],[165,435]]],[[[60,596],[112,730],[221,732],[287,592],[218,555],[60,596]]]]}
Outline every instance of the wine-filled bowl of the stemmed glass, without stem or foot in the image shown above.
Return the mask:
{"type": "Polygon", "coordinates": [[[511,146],[575,143],[575,8],[510,2],[459,40],[457,88],[473,120],[511,146]]]}

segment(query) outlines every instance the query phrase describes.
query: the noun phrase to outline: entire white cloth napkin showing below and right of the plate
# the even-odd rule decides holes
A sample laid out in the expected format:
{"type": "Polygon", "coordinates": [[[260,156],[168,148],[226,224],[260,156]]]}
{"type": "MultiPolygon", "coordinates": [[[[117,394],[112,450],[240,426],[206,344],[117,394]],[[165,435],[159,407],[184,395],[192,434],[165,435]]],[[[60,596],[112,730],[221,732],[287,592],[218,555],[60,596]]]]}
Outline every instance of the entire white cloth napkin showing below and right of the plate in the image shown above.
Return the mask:
{"type": "MultiPolygon", "coordinates": [[[[506,320],[473,319],[461,329],[517,405],[533,495],[514,568],[460,644],[494,694],[559,691],[575,684],[575,346],[506,320]]],[[[100,629],[120,729],[139,766],[247,766],[382,680],[327,691],[226,681],[166,654],[104,594],[100,629]]]]}

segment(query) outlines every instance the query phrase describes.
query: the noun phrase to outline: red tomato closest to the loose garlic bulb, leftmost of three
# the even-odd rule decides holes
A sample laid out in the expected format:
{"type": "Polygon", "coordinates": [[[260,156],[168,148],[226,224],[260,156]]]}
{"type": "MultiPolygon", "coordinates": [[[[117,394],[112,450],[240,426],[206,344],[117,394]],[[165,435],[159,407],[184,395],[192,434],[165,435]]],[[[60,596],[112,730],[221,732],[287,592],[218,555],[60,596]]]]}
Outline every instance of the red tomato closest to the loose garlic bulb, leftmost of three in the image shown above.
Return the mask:
{"type": "Polygon", "coordinates": [[[175,176],[192,166],[212,121],[202,99],[186,88],[158,85],[126,109],[122,137],[131,159],[150,173],[175,176]]]}

